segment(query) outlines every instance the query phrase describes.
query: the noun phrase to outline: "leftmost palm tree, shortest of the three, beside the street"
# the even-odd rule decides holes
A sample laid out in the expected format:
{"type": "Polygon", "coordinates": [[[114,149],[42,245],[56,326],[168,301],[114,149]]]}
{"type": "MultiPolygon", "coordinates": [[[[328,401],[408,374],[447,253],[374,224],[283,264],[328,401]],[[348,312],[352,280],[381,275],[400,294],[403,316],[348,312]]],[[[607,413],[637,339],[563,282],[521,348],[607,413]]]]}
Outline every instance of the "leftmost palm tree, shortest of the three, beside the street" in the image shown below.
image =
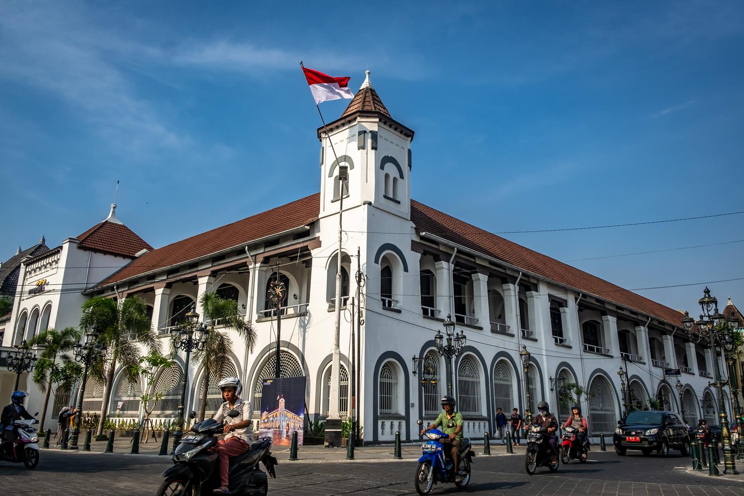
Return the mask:
{"type": "Polygon", "coordinates": [[[39,334],[33,336],[28,341],[29,347],[40,347],[39,361],[33,367],[33,382],[44,392],[44,405],[42,405],[41,428],[44,428],[46,419],[46,410],[49,405],[49,396],[51,394],[51,384],[54,383],[54,369],[57,367],[55,359],[61,354],[63,361],[70,361],[72,358],[65,355],[65,352],[72,350],[80,342],[80,331],[74,327],[65,327],[61,331],[55,329],[45,329],[39,334]]]}

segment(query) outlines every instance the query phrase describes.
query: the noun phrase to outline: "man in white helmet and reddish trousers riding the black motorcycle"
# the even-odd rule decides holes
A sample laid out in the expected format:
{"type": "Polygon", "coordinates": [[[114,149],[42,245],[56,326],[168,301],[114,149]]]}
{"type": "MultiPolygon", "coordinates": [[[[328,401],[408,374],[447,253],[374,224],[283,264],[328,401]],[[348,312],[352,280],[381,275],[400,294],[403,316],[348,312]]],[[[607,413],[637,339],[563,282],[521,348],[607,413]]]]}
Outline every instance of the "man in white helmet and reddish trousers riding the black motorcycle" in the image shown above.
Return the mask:
{"type": "Polygon", "coordinates": [[[230,457],[236,457],[239,454],[245,453],[251,447],[253,423],[251,421],[251,405],[245,399],[239,397],[240,392],[243,390],[240,379],[237,377],[222,379],[217,384],[217,387],[222,391],[222,399],[225,402],[217,408],[217,413],[212,418],[217,420],[217,422],[225,421],[224,432],[227,435],[225,439],[219,439],[217,446],[212,448],[216,449],[217,456],[219,457],[219,480],[221,484],[213,492],[216,495],[228,495],[230,494],[228,487],[230,457]],[[230,410],[238,410],[240,415],[234,418],[229,417],[227,414],[230,410]]]}

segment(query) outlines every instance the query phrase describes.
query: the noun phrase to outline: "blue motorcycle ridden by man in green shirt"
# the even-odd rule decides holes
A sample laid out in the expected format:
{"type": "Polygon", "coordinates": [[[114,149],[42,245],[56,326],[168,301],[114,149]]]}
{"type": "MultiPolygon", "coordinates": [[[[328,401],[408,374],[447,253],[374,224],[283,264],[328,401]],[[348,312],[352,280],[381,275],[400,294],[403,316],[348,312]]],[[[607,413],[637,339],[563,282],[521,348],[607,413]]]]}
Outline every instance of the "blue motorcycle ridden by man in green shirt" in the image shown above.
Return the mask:
{"type": "MultiPolygon", "coordinates": [[[[419,425],[422,422],[418,421],[419,425]]],[[[460,463],[459,471],[463,473],[461,480],[455,480],[457,471],[455,470],[454,463],[449,457],[444,455],[444,445],[442,439],[447,437],[438,429],[433,429],[426,433],[428,440],[421,445],[421,451],[423,454],[418,460],[418,466],[416,468],[416,477],[414,483],[416,486],[416,492],[424,496],[428,495],[432,491],[432,487],[436,483],[455,483],[458,489],[463,489],[470,482],[470,464],[472,463],[472,457],[475,453],[472,452],[470,440],[463,439],[462,446],[460,447],[460,463]]]]}

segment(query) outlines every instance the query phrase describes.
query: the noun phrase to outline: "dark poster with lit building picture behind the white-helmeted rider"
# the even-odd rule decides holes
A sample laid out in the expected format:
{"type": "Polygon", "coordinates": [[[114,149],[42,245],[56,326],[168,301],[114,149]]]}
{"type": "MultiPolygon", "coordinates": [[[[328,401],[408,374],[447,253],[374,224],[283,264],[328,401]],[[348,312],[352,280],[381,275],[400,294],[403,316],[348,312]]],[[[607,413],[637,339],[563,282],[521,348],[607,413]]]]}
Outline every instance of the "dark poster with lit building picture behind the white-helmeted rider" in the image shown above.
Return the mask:
{"type": "Polygon", "coordinates": [[[266,379],[261,390],[258,436],[271,437],[274,445],[289,446],[297,431],[302,445],[305,420],[306,377],[266,379]]]}

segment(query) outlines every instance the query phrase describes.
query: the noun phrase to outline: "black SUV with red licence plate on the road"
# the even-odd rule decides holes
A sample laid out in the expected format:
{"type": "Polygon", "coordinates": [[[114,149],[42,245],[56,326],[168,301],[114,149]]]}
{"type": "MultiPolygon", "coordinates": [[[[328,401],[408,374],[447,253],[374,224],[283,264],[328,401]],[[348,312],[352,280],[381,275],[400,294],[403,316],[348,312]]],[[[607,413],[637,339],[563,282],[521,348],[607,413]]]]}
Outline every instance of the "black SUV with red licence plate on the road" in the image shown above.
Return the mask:
{"type": "Polygon", "coordinates": [[[690,453],[690,434],[674,412],[644,410],[630,413],[625,422],[618,422],[615,436],[615,453],[623,456],[626,450],[641,450],[644,455],[656,451],[666,457],[669,449],[679,449],[683,457],[690,453]]]}

